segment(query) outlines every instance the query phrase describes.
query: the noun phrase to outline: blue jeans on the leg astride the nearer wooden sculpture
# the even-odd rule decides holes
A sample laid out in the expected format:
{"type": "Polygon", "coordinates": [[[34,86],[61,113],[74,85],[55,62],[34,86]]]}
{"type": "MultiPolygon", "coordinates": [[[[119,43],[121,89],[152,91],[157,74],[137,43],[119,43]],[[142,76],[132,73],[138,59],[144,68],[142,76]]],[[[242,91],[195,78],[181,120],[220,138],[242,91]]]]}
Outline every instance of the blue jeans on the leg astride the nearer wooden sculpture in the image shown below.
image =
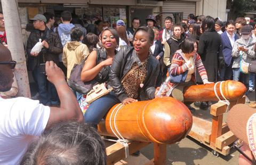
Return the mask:
{"type": "Polygon", "coordinates": [[[119,102],[120,100],[113,91],[93,101],[84,114],[85,123],[90,123],[93,127],[97,128],[100,120],[107,114],[110,108],[119,102]]]}

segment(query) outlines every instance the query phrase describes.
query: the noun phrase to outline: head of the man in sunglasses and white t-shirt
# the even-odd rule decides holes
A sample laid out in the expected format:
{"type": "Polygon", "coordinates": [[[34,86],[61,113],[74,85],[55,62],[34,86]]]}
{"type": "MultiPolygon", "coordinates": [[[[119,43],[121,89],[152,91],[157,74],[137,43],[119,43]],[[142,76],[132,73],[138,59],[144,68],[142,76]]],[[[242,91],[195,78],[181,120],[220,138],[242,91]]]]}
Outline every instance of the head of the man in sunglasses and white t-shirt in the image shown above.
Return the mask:
{"type": "Polygon", "coordinates": [[[13,72],[10,64],[1,64],[1,62],[11,62],[12,56],[9,49],[0,45],[0,92],[9,91],[13,83],[13,72]]]}

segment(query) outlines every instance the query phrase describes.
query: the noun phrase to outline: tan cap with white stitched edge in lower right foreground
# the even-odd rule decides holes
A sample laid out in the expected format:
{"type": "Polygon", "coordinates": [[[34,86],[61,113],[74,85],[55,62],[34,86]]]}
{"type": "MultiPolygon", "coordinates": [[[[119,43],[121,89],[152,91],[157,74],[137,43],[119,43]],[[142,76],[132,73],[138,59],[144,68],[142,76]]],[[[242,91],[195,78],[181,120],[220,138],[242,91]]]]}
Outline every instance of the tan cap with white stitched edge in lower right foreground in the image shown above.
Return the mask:
{"type": "Polygon", "coordinates": [[[231,132],[250,147],[256,159],[256,109],[235,105],[228,112],[227,123],[231,132]]]}

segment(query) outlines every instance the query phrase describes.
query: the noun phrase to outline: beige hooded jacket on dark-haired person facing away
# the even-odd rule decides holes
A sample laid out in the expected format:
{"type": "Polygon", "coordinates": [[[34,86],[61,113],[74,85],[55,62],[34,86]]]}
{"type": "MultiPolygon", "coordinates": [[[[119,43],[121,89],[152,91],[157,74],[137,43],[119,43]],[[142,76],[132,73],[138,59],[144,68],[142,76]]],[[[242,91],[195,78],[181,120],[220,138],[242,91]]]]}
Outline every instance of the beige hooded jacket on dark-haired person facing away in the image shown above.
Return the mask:
{"type": "Polygon", "coordinates": [[[89,55],[89,49],[81,42],[67,42],[63,48],[62,62],[67,67],[67,77],[69,78],[74,64],[80,64],[89,55]]]}

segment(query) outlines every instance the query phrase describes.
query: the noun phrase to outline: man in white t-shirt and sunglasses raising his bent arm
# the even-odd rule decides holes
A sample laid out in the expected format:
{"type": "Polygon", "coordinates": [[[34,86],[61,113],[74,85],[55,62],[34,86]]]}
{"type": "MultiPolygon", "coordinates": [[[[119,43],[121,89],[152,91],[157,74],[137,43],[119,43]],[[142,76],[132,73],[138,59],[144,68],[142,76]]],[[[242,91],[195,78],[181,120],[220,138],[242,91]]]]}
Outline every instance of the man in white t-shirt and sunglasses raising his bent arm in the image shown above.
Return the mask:
{"type": "MultiPolygon", "coordinates": [[[[11,52],[0,45],[0,92],[11,89],[16,62],[11,52]]],[[[0,164],[20,164],[22,155],[37,136],[54,123],[65,120],[83,122],[84,117],[75,95],[69,89],[60,68],[46,62],[47,78],[59,94],[60,108],[48,107],[24,97],[5,99],[0,95],[0,164]]]]}

